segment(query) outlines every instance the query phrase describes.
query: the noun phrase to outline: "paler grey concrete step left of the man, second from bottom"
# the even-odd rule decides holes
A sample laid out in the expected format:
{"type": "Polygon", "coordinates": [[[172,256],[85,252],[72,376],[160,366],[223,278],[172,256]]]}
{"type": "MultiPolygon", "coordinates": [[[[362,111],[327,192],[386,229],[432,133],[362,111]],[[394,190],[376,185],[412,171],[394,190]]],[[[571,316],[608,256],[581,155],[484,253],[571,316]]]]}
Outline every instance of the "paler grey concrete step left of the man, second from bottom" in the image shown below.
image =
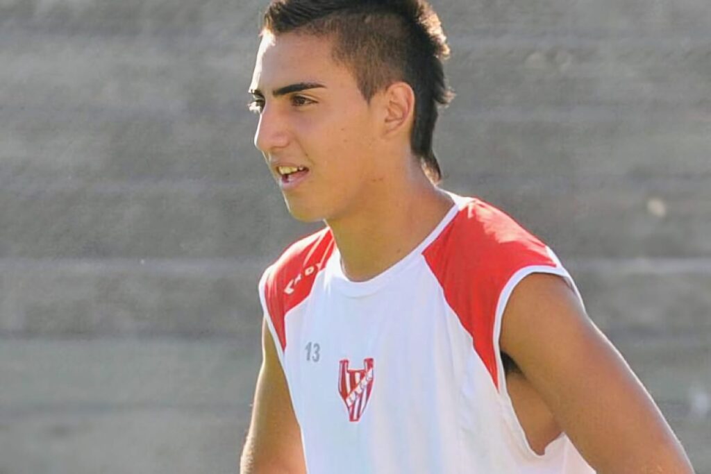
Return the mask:
{"type": "Polygon", "coordinates": [[[198,341],[4,339],[0,354],[6,421],[79,411],[243,411],[262,350],[250,330],[198,341]]]}

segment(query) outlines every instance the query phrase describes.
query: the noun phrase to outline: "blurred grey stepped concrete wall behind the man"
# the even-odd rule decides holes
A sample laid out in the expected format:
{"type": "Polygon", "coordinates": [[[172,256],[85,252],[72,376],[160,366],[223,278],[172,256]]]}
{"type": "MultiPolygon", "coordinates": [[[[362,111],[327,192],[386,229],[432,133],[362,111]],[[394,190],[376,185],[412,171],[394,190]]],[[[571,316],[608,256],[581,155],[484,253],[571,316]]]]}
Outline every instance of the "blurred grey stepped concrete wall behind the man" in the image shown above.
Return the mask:
{"type": "MultiPolygon", "coordinates": [[[[0,0],[0,473],[235,473],[256,282],[292,239],[252,147],[266,0],[0,0]]],[[[711,473],[711,5],[435,0],[444,187],[543,237],[711,473]]]]}

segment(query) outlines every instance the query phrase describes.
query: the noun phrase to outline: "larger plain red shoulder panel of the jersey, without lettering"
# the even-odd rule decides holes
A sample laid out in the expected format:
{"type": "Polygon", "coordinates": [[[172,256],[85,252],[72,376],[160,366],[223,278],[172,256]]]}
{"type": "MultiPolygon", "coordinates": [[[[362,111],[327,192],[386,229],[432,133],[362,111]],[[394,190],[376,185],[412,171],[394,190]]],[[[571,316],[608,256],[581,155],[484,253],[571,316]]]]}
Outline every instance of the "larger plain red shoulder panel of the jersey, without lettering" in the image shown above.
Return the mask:
{"type": "Polygon", "coordinates": [[[473,199],[423,255],[498,388],[493,334],[498,299],[523,267],[556,266],[547,247],[501,210],[473,199]]]}

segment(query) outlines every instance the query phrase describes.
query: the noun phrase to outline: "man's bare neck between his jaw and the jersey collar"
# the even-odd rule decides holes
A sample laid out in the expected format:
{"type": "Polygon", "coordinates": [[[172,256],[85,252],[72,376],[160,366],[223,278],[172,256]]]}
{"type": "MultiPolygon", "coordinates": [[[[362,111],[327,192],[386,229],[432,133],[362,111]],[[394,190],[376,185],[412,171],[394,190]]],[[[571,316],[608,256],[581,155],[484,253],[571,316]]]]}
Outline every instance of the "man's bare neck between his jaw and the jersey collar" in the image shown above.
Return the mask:
{"type": "Polygon", "coordinates": [[[447,193],[424,178],[395,185],[385,195],[371,198],[357,215],[328,220],[341,253],[343,273],[352,281],[366,281],[382,273],[412,252],[452,205],[447,193]]]}

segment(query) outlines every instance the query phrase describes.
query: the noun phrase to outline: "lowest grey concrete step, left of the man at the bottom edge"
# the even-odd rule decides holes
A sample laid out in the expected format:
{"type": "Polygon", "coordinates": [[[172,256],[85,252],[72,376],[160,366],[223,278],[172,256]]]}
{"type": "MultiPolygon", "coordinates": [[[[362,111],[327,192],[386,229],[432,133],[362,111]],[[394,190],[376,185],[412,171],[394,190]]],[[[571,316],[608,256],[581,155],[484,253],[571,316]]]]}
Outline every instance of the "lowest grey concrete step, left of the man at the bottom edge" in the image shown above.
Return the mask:
{"type": "Polygon", "coordinates": [[[7,474],[234,474],[249,411],[37,414],[0,421],[7,474]]]}

